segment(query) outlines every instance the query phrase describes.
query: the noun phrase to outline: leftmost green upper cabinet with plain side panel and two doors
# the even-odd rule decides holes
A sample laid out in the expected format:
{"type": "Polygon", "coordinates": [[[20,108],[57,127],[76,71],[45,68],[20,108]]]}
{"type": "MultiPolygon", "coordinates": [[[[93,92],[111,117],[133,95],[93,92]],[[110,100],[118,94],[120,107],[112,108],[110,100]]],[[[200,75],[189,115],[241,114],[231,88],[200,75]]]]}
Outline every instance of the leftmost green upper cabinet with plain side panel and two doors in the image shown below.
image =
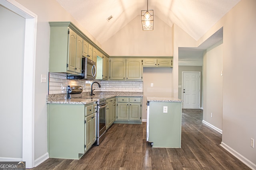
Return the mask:
{"type": "Polygon", "coordinates": [[[49,72],[80,74],[82,41],[82,37],[68,25],[52,25],[50,23],[49,72]]]}

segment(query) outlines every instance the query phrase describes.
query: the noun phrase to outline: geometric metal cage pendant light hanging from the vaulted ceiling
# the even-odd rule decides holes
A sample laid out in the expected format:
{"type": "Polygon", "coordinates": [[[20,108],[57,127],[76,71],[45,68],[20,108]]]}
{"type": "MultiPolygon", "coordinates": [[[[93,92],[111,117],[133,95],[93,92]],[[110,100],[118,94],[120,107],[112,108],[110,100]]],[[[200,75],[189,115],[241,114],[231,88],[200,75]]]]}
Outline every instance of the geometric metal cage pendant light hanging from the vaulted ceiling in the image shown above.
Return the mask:
{"type": "Polygon", "coordinates": [[[154,28],[154,12],[153,10],[148,10],[148,1],[147,1],[147,10],[141,11],[141,23],[142,30],[153,30],[154,28]]]}

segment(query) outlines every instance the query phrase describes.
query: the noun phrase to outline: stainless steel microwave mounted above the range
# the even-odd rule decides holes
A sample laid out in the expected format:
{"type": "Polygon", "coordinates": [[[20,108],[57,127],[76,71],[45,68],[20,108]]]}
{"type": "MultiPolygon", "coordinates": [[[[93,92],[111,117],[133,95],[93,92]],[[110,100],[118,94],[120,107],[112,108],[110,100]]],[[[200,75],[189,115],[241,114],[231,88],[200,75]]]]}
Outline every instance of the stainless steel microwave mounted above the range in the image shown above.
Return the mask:
{"type": "Polygon", "coordinates": [[[67,75],[68,79],[74,79],[74,80],[81,80],[81,79],[86,79],[86,80],[95,80],[96,77],[96,65],[95,62],[83,57],[82,58],[82,74],[77,76],[77,75],[67,75]]]}

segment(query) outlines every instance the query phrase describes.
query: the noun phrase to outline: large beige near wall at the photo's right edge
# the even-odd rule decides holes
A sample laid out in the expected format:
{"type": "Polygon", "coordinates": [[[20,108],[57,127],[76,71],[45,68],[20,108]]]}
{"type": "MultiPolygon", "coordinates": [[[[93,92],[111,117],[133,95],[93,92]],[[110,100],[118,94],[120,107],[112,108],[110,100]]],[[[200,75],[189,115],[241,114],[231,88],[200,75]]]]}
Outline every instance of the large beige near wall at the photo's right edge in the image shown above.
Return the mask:
{"type": "MultiPolygon", "coordinates": [[[[256,1],[241,0],[198,44],[223,26],[222,146],[256,169],[256,1]]],[[[205,103],[204,103],[205,105],[205,103]]]]}

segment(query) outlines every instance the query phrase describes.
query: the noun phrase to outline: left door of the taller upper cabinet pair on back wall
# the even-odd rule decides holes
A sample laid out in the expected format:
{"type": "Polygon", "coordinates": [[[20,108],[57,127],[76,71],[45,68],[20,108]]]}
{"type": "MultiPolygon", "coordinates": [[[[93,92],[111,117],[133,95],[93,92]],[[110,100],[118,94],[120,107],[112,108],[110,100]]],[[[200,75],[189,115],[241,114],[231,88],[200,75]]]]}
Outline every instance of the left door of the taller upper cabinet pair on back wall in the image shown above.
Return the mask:
{"type": "Polygon", "coordinates": [[[126,77],[125,59],[110,60],[110,80],[125,80],[126,77]]]}

